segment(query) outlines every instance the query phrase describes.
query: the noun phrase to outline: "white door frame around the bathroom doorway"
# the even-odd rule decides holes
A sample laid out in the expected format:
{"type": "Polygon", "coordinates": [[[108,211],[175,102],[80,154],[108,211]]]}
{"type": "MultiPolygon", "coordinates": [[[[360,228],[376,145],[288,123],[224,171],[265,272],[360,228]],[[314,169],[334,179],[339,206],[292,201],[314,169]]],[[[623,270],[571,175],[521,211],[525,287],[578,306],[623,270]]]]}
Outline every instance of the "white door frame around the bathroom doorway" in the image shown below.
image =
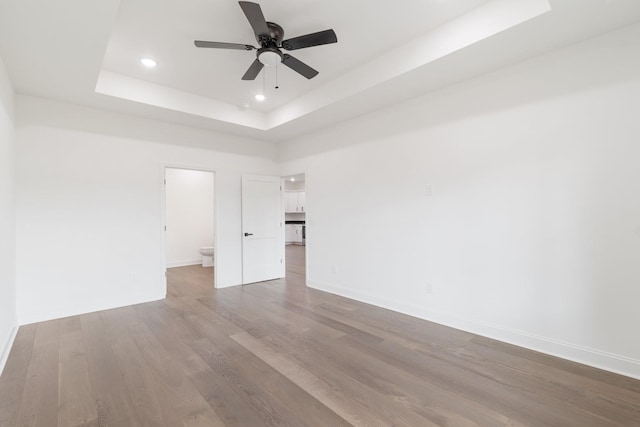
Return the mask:
{"type": "MultiPolygon", "coordinates": [[[[185,165],[179,163],[161,163],[160,164],[160,251],[162,256],[162,270],[160,280],[160,291],[164,297],[167,296],[167,235],[166,235],[166,225],[167,225],[167,186],[166,186],[166,176],[167,169],[184,169],[184,170],[192,170],[199,172],[211,172],[213,174],[213,247],[215,248],[214,252],[214,260],[218,258],[218,248],[220,245],[218,244],[218,179],[216,179],[217,170],[201,165],[185,165]]],[[[218,268],[214,263],[213,268],[213,288],[218,287],[218,268]]]]}

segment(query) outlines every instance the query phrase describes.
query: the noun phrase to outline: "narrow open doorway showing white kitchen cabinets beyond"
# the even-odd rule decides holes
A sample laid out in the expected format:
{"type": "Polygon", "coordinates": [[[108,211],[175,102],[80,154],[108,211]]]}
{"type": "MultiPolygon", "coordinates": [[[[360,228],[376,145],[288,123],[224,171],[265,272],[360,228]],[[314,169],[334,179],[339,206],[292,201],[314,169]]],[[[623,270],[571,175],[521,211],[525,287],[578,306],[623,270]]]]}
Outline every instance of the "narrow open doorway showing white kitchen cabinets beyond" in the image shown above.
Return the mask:
{"type": "Polygon", "coordinates": [[[287,283],[306,284],[307,206],[305,174],[282,177],[287,283]]]}

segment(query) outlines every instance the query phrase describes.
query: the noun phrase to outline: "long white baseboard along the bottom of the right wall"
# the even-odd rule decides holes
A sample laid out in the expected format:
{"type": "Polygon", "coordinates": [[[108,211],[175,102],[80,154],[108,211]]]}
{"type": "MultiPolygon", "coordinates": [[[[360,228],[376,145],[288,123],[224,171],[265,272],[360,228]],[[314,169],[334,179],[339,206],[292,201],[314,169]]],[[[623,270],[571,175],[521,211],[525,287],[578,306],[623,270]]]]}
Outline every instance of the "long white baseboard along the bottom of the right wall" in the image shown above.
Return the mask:
{"type": "Polygon", "coordinates": [[[478,322],[458,316],[451,316],[445,313],[438,313],[412,304],[381,298],[376,295],[354,291],[352,289],[331,285],[329,283],[308,280],[307,286],[320,291],[329,292],[345,298],[350,298],[402,314],[407,314],[409,316],[428,320],[444,326],[449,326],[451,328],[460,329],[476,335],[481,335],[487,338],[549,354],[551,356],[581,363],[583,365],[640,379],[640,360],[630,357],[620,356],[549,337],[531,334],[525,331],[506,328],[500,325],[478,322]]]}

